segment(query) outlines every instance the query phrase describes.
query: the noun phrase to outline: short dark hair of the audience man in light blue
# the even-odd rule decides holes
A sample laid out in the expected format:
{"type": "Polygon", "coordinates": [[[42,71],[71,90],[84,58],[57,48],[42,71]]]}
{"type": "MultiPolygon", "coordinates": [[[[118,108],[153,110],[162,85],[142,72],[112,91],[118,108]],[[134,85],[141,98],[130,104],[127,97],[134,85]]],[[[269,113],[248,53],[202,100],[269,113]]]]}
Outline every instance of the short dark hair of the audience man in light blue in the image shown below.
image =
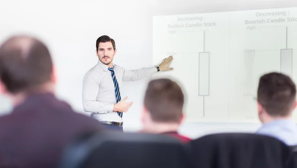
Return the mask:
{"type": "Polygon", "coordinates": [[[296,102],[296,85],[285,74],[271,72],[259,79],[257,100],[271,116],[288,116],[296,102]]]}

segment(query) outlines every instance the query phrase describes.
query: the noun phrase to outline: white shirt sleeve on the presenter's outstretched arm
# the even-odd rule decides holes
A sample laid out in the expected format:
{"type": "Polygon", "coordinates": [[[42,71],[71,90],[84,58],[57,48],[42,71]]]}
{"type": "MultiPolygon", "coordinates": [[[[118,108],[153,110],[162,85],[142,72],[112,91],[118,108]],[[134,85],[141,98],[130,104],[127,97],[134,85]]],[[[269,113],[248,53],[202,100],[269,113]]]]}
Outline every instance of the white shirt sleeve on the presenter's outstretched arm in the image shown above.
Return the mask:
{"type": "Polygon", "coordinates": [[[140,80],[149,77],[158,71],[156,67],[144,67],[135,70],[125,70],[124,68],[122,68],[122,70],[124,71],[123,81],[140,80]]]}

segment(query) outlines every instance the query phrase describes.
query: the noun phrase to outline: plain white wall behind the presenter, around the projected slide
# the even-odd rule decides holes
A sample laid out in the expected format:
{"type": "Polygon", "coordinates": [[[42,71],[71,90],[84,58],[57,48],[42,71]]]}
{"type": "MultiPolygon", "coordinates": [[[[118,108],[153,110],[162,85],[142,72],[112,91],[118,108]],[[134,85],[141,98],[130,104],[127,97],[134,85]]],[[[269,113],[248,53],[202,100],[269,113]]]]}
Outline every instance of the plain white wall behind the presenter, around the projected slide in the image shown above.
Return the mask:
{"type": "MultiPolygon", "coordinates": [[[[58,72],[57,95],[83,112],[82,78],[97,63],[96,39],[115,39],[114,63],[128,69],[152,66],[152,16],[297,6],[296,0],[5,0],[0,5],[0,41],[28,33],[43,39],[58,72]],[[4,16],[4,17],[3,17],[4,16]]],[[[166,56],[164,56],[166,57],[166,56]]],[[[148,79],[126,82],[122,95],[134,101],[124,115],[125,130],[141,127],[140,112],[148,79]]],[[[0,111],[9,110],[0,95],[0,111]]],[[[4,113],[4,112],[2,112],[4,113]]],[[[259,124],[184,123],[191,137],[221,131],[253,132],[259,124]],[[242,129],[242,130],[241,130],[242,129]]]]}

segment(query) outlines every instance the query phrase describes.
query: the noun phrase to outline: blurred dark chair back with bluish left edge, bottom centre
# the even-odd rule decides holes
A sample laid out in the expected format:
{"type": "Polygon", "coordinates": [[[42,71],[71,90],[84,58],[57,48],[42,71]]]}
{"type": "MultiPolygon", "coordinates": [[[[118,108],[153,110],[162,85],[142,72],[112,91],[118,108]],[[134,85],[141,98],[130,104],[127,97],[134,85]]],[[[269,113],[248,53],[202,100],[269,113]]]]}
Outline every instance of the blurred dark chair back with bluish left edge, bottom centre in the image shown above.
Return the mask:
{"type": "Polygon", "coordinates": [[[101,132],[67,147],[60,168],[189,168],[188,159],[186,147],[167,135],[101,132]]]}

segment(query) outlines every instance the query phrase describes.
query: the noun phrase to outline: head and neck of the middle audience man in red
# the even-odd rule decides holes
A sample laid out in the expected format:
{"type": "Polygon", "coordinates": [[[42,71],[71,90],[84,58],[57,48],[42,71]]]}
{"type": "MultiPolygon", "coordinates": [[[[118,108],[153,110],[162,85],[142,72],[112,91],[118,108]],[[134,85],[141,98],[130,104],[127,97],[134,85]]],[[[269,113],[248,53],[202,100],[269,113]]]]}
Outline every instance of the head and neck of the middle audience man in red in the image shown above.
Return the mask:
{"type": "Polygon", "coordinates": [[[183,106],[184,94],[176,82],[164,78],[150,81],[144,99],[144,131],[177,131],[183,120],[183,106]]]}

